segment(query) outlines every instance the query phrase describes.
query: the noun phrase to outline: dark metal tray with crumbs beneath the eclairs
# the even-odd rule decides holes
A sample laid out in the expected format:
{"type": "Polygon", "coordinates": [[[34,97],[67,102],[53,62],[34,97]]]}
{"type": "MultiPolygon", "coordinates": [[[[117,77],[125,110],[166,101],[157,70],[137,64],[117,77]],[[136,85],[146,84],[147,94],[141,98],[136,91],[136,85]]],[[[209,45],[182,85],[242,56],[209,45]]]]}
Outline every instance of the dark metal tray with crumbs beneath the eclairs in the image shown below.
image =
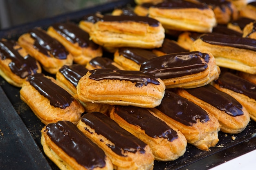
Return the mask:
{"type": "MultiPolygon", "coordinates": [[[[0,31],[0,38],[17,39],[31,28],[47,28],[55,22],[78,22],[89,13],[109,13],[116,7],[134,5],[133,0],[103,4],[91,9],[46,18],[37,22],[0,31]]],[[[58,167],[44,154],[40,144],[41,129],[45,126],[22,102],[20,88],[11,86],[0,77],[0,169],[52,169],[58,167]]],[[[235,157],[256,149],[256,122],[250,121],[239,134],[219,132],[219,143],[202,151],[188,144],[184,156],[175,161],[155,161],[154,170],[208,170],[235,157]]]]}

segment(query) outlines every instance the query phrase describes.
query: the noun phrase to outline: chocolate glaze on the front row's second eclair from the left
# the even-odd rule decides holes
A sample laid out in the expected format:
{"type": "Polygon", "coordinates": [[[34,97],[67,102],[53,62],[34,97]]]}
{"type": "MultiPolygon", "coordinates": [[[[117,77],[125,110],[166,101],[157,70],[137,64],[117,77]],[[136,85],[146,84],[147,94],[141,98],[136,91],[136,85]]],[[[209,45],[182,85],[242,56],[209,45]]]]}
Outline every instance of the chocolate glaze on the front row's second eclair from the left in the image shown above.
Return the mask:
{"type": "MultiPolygon", "coordinates": [[[[144,148],[146,144],[130,132],[121,128],[119,124],[110,119],[110,117],[99,112],[92,112],[83,115],[81,121],[94,129],[97,134],[103,135],[110,140],[114,146],[108,145],[108,147],[117,155],[126,157],[123,153],[145,153],[144,148]]],[[[85,128],[85,130],[88,129],[85,128]]]]}

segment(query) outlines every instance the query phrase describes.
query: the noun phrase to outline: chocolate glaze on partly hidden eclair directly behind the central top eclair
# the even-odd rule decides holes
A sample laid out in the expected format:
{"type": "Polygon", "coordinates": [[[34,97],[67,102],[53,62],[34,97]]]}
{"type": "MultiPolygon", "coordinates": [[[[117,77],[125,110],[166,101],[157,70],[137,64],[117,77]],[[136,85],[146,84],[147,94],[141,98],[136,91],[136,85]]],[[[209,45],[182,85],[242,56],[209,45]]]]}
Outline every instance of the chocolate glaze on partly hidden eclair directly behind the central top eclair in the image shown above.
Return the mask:
{"type": "Polygon", "coordinates": [[[142,64],[150,58],[157,57],[155,53],[146,49],[139,48],[119,48],[118,53],[119,55],[123,55],[124,57],[136,62],[137,64],[142,64]]]}

